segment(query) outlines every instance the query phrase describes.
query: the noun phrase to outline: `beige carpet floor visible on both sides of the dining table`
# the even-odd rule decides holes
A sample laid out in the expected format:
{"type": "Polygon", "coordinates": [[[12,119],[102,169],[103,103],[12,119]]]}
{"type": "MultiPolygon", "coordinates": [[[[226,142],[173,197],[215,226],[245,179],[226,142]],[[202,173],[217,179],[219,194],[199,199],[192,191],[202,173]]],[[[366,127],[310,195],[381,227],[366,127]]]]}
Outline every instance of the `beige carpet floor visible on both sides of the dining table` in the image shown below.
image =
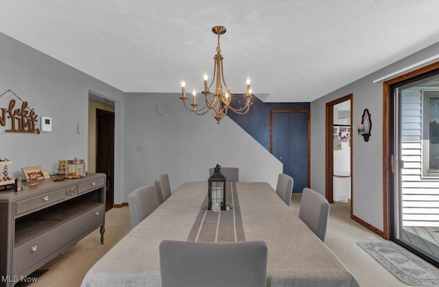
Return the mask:
{"type": "MultiPolygon", "coordinates": [[[[300,196],[300,194],[294,194],[292,197],[291,208],[297,214],[300,206],[300,196]]],[[[384,269],[381,264],[357,245],[359,241],[385,240],[353,221],[350,218],[348,203],[331,204],[329,214],[325,243],[353,273],[359,286],[408,286],[396,279],[394,275],[384,269]]],[[[99,230],[96,230],[67,253],[43,266],[41,269],[46,269],[47,272],[39,277],[37,283],[29,286],[80,286],[88,269],[130,229],[128,208],[113,208],[106,213],[106,239],[104,245],[100,244],[99,230]]]]}

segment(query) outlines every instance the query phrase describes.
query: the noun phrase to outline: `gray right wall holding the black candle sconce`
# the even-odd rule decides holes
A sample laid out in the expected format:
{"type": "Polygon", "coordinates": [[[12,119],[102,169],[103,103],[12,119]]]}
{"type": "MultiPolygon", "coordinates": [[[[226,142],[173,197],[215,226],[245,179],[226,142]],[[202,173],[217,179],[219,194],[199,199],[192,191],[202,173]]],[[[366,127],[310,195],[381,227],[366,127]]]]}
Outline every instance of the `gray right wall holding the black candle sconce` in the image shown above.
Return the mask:
{"type": "Polygon", "coordinates": [[[438,53],[439,43],[436,43],[311,102],[311,188],[322,194],[325,190],[322,163],[326,103],[353,93],[354,129],[361,122],[363,110],[368,108],[372,119],[369,142],[353,132],[353,214],[380,230],[383,230],[383,82],[372,82],[438,53]]]}

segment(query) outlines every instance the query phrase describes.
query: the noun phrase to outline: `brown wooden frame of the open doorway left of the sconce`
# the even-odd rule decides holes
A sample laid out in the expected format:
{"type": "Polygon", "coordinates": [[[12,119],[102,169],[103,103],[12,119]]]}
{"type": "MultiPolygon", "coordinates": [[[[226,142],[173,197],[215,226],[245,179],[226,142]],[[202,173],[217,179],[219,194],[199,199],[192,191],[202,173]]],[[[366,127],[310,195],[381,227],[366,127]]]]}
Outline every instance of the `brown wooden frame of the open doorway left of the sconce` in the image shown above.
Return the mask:
{"type": "Polygon", "coordinates": [[[351,100],[351,218],[353,216],[353,128],[352,128],[352,114],[353,114],[353,94],[346,95],[339,99],[335,99],[326,103],[326,127],[325,127],[325,197],[329,203],[334,203],[333,192],[333,176],[334,176],[334,140],[333,140],[333,125],[334,125],[334,105],[351,100]]]}

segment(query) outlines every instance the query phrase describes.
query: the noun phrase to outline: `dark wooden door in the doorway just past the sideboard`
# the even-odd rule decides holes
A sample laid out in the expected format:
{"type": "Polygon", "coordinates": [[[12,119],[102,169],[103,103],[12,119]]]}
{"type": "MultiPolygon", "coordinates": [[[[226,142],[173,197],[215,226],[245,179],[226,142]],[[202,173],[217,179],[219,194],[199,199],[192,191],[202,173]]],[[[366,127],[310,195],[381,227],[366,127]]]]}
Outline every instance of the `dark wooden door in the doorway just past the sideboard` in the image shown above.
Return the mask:
{"type": "Polygon", "coordinates": [[[96,172],[107,175],[106,211],[115,204],[115,113],[96,109],[96,172]]]}

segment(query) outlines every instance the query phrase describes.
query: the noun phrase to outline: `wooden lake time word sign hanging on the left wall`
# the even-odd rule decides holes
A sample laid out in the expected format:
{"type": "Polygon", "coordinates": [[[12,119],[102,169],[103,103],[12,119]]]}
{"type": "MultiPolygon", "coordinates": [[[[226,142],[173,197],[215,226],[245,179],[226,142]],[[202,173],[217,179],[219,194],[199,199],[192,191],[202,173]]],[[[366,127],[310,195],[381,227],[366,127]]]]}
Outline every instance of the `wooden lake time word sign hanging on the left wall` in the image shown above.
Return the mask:
{"type": "Polygon", "coordinates": [[[40,134],[40,129],[36,128],[38,114],[35,113],[34,108],[29,108],[27,101],[23,101],[12,90],[6,90],[0,97],[3,97],[8,92],[11,92],[12,95],[19,99],[21,104],[17,103],[16,99],[11,99],[7,108],[1,108],[0,125],[5,127],[8,123],[10,124],[10,129],[5,129],[5,132],[40,134]]]}

